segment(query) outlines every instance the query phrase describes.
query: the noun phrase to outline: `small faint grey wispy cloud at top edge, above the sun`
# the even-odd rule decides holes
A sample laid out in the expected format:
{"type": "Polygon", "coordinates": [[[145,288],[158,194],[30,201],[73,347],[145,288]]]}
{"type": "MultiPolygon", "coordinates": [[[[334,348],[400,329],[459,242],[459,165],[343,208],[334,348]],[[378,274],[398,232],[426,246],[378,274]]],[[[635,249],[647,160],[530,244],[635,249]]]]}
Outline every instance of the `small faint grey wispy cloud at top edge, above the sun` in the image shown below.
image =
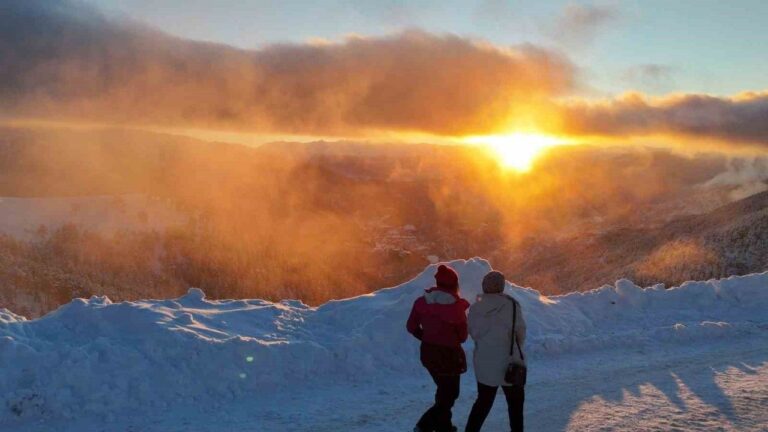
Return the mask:
{"type": "Polygon", "coordinates": [[[545,33],[568,46],[585,45],[598,32],[617,21],[621,14],[613,5],[568,4],[552,22],[545,24],[545,33]]]}

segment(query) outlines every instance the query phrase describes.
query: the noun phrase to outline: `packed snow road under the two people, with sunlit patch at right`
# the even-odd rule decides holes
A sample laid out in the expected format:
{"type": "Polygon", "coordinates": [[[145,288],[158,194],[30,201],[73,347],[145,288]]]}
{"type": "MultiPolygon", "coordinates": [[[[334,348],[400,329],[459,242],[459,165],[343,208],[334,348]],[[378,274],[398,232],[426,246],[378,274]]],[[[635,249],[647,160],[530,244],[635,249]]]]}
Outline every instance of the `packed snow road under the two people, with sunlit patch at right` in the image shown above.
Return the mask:
{"type": "MultiPolygon", "coordinates": [[[[529,431],[768,431],[768,329],[713,345],[600,352],[531,367],[529,431]]],[[[422,378],[275,400],[232,429],[197,430],[410,431],[430,403],[433,388],[422,378]]],[[[454,409],[460,430],[474,395],[468,373],[454,409]]],[[[509,430],[506,422],[499,394],[484,430],[509,430]]]]}

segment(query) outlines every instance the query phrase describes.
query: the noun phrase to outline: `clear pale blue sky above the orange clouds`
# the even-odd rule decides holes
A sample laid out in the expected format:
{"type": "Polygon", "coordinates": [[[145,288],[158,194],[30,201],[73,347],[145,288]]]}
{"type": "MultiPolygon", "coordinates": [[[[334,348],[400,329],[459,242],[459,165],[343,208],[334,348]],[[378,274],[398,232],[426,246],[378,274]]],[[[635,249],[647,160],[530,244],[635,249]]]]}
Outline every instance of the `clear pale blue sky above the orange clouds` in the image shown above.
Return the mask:
{"type": "Polygon", "coordinates": [[[768,88],[763,0],[89,1],[172,34],[243,48],[403,28],[532,42],[567,53],[596,95],[768,88]]]}

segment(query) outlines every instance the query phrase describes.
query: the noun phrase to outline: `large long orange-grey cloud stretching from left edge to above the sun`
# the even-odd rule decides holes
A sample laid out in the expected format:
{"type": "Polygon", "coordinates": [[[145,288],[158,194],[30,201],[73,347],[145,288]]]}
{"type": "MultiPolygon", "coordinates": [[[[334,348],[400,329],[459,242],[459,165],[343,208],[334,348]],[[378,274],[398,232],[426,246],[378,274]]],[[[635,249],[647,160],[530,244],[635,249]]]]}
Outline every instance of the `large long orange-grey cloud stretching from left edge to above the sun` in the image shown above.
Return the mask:
{"type": "Polygon", "coordinates": [[[423,31],[248,51],[169,36],[80,3],[10,0],[0,113],[355,135],[492,131],[572,86],[567,58],[423,31]]]}

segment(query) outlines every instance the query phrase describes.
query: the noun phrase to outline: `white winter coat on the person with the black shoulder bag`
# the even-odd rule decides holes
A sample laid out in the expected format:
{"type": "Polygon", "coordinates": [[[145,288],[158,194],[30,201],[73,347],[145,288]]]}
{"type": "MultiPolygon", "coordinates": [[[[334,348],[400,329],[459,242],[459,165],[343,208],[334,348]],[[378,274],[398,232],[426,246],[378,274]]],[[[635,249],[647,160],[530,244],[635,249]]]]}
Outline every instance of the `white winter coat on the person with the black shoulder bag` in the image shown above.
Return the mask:
{"type": "MultiPolygon", "coordinates": [[[[489,386],[510,385],[504,382],[504,374],[510,361],[525,365],[520,349],[515,345],[510,357],[512,343],[512,307],[517,305],[515,333],[520,349],[525,345],[525,319],[520,303],[505,294],[483,294],[469,308],[469,334],[475,341],[475,376],[481,384],[489,386]]],[[[523,356],[525,353],[523,353],[523,356]]]]}

